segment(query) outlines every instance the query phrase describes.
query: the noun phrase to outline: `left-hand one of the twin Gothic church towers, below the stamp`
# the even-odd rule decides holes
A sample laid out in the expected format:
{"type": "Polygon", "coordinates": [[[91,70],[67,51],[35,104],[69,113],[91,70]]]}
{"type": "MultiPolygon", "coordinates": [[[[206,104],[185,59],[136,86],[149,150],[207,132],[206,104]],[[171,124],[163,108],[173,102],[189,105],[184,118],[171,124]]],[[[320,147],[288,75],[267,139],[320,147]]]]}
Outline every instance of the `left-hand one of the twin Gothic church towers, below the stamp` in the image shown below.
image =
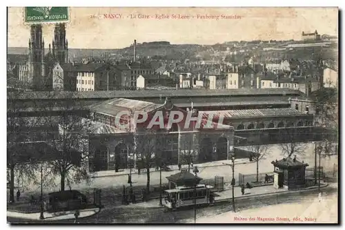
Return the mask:
{"type": "Polygon", "coordinates": [[[33,24],[30,29],[28,53],[29,82],[34,88],[40,88],[45,75],[44,41],[41,24],[33,24]]]}

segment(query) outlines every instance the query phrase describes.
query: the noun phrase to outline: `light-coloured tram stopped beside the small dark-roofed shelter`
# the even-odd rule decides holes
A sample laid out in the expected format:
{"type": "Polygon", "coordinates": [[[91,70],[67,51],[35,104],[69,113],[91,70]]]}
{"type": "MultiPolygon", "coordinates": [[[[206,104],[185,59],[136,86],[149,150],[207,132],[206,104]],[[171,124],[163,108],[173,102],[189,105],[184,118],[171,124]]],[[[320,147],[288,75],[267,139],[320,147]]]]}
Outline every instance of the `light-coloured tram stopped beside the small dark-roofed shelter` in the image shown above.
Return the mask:
{"type": "Polygon", "coordinates": [[[180,207],[192,206],[198,204],[213,204],[214,195],[210,191],[213,186],[198,184],[195,186],[177,186],[175,189],[164,191],[164,206],[168,209],[178,209],[180,207]],[[196,200],[195,200],[196,191],[196,200]]]}

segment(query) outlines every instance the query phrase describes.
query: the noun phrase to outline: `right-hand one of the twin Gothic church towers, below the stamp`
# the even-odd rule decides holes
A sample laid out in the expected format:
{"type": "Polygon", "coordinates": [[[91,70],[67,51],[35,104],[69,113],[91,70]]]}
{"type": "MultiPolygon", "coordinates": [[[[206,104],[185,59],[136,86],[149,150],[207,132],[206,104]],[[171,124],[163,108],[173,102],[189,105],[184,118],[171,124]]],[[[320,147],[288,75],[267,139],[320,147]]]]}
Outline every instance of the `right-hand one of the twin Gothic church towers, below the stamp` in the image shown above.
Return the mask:
{"type": "Polygon", "coordinates": [[[52,55],[60,64],[68,62],[68,41],[66,39],[65,23],[55,24],[52,55]]]}

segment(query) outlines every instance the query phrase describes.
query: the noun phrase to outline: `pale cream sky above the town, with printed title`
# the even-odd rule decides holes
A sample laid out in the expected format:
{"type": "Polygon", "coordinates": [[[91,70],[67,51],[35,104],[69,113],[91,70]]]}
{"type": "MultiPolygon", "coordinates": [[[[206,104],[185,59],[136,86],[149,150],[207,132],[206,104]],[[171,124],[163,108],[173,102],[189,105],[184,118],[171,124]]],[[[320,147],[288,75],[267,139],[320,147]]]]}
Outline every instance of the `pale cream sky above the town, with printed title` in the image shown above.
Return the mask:
{"type": "MultiPolygon", "coordinates": [[[[216,44],[224,41],[301,38],[302,31],[320,35],[338,34],[337,8],[70,8],[66,37],[69,48],[124,48],[148,41],[171,44],[216,44]],[[122,19],[104,19],[103,14],[121,14],[122,19]],[[130,19],[130,15],[150,19],[130,19]],[[155,19],[155,14],[170,19],[155,19]],[[97,18],[91,18],[92,15],[97,18]],[[171,19],[190,15],[191,19],[171,19]],[[232,15],[240,19],[197,19],[197,15],[232,15]],[[99,18],[101,17],[101,18],[99,18]]],[[[46,47],[54,27],[43,26],[46,47]]],[[[28,47],[30,26],[23,23],[23,8],[8,8],[8,46],[28,47]]]]}

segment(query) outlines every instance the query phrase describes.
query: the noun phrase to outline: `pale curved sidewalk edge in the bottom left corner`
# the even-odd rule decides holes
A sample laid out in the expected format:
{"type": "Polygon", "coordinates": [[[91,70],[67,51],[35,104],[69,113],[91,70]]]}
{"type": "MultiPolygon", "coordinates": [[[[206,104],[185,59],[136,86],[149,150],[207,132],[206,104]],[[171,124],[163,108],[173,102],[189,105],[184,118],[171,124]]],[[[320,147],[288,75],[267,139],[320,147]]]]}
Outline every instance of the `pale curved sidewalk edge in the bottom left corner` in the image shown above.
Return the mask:
{"type": "MultiPolygon", "coordinates": [[[[93,208],[93,209],[81,209],[79,210],[79,218],[85,218],[90,215],[94,215],[99,212],[99,208],[93,208]]],[[[73,211],[66,211],[64,213],[48,213],[44,212],[44,219],[41,221],[46,220],[72,220],[75,219],[75,210],[73,211]]],[[[26,219],[26,220],[40,220],[39,219],[40,213],[19,213],[17,211],[7,211],[7,217],[8,218],[20,218],[20,219],[26,219]]]]}

